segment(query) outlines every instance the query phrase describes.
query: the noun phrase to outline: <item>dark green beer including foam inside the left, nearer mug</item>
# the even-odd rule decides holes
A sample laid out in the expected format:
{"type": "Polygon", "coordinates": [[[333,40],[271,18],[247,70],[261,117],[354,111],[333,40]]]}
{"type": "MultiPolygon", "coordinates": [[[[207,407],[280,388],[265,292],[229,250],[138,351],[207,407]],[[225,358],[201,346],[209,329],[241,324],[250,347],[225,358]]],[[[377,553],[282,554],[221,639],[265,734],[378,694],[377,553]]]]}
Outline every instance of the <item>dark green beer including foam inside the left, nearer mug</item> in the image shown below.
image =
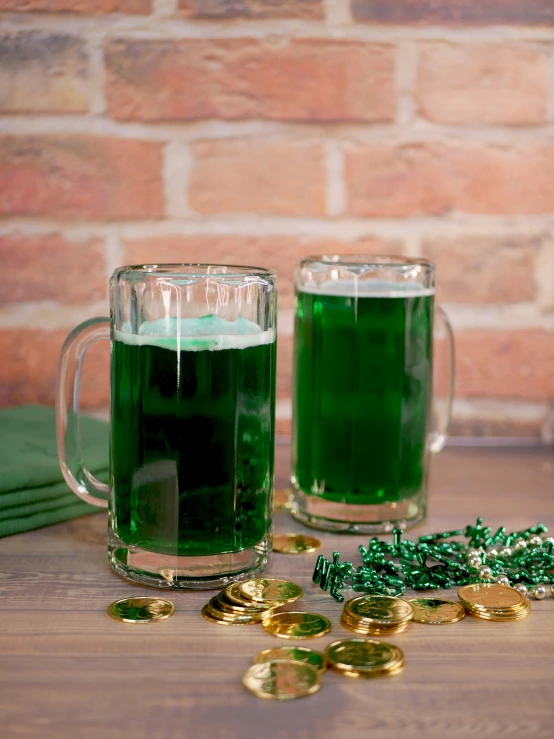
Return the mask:
{"type": "Polygon", "coordinates": [[[202,556],[267,536],[274,368],[274,330],[244,318],[114,330],[111,513],[121,542],[202,556]]]}

